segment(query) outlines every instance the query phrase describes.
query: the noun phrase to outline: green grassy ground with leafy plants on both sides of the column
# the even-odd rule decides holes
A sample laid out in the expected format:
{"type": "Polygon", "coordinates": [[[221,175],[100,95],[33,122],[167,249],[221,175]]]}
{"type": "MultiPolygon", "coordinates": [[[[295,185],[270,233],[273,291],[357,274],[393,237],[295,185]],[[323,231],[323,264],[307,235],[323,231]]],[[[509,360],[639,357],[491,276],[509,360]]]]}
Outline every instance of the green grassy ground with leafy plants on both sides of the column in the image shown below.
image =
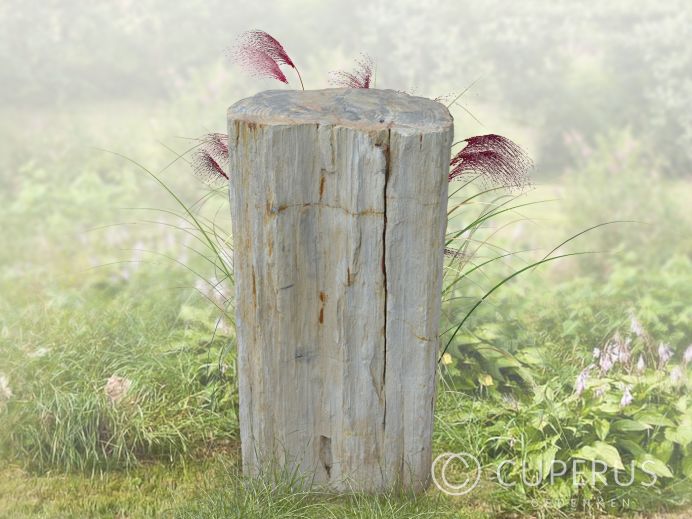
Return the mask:
{"type": "MultiPolygon", "coordinates": [[[[40,160],[15,161],[0,193],[0,517],[685,517],[692,189],[610,146],[564,181],[517,199],[474,199],[450,221],[454,232],[497,204],[562,199],[522,205],[451,243],[475,253],[447,264],[442,345],[450,356],[440,368],[434,451],[473,453],[483,467],[479,487],[456,498],[435,487],[418,497],[333,496],[290,478],[239,476],[232,286],[202,237],[167,212],[179,208],[155,182],[116,156],[68,141],[42,145],[53,151],[40,160]],[[118,209],[133,206],[144,209],[118,209]],[[639,222],[560,247],[556,254],[599,254],[526,271],[454,335],[505,276],[610,220],[639,222]],[[491,261],[515,251],[526,252],[491,261]],[[631,332],[632,315],[641,336],[631,332]],[[616,333],[631,338],[632,362],[594,369],[577,396],[577,375],[616,333]],[[671,348],[666,363],[660,343],[671,348]],[[639,355],[646,370],[635,376],[639,355]],[[684,376],[673,382],[678,368],[684,376]],[[627,386],[634,401],[621,407],[627,386]],[[493,478],[503,459],[527,460],[535,476],[537,464],[595,448],[613,466],[655,458],[657,485],[622,492],[609,473],[578,488],[506,489],[493,478]]],[[[166,164],[163,152],[142,153],[166,164]]],[[[205,194],[184,164],[164,178],[188,203],[205,194]]],[[[229,245],[226,203],[221,193],[196,213],[213,222],[220,248],[229,245]]]]}

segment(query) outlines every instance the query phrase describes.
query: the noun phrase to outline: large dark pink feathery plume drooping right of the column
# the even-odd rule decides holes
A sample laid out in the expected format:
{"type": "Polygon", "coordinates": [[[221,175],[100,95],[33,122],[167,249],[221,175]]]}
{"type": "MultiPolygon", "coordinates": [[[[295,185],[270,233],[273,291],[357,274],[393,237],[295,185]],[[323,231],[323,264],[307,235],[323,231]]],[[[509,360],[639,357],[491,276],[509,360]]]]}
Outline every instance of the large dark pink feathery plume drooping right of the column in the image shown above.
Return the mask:
{"type": "Polygon", "coordinates": [[[529,183],[533,161],[517,144],[501,135],[479,135],[463,142],[466,146],[450,163],[449,180],[477,173],[495,185],[522,188],[529,183]]]}

